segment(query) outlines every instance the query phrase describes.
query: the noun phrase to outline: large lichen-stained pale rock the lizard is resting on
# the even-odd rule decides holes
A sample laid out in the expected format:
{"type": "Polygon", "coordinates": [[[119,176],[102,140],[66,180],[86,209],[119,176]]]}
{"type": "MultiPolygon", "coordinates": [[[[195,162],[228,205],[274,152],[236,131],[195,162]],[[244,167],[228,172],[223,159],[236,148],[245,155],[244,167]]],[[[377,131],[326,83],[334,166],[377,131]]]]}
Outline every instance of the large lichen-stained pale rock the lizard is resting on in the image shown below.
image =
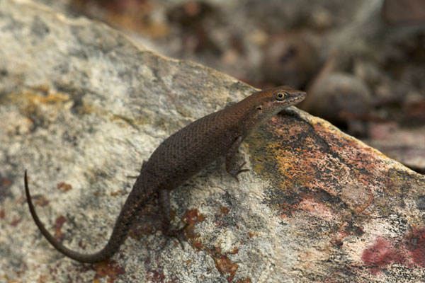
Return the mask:
{"type": "Polygon", "coordinates": [[[120,252],[83,265],[63,243],[106,242],[143,159],[169,134],[249,86],[161,57],[115,30],[28,1],[0,1],[0,282],[418,282],[425,277],[425,178],[324,120],[276,116],[172,193],[185,249],[147,205],[120,252]]]}

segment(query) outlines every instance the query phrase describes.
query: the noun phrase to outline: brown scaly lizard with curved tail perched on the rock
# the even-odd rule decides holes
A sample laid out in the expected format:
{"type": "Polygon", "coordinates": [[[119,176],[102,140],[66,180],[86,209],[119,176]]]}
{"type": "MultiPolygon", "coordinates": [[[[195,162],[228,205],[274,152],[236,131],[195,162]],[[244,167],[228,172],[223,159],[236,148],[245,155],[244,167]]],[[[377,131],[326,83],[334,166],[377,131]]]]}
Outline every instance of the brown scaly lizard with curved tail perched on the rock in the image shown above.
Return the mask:
{"type": "Polygon", "coordinates": [[[71,250],[47,231],[35,212],[25,171],[24,185],[30,214],[53,247],[79,262],[103,262],[111,258],[125,241],[137,214],[153,197],[158,197],[162,232],[165,236],[176,236],[178,231],[170,229],[170,191],[185,183],[218,156],[225,156],[225,170],[238,180],[239,173],[249,171],[242,168],[246,162],[240,165],[234,162],[234,156],[245,137],[273,115],[302,101],[305,96],[305,92],[289,86],[257,91],[238,103],[201,117],[164,139],[149,159],[143,161],[140,175],[115,221],[111,236],[98,252],[79,253],[71,250]]]}

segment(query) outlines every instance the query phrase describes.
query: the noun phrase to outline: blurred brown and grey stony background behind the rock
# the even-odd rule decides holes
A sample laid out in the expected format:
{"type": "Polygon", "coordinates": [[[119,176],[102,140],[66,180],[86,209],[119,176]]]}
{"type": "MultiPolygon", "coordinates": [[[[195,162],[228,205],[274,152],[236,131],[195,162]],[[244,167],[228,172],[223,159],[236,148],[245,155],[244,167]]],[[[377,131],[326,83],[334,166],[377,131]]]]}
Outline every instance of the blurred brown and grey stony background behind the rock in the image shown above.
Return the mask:
{"type": "Polygon", "coordinates": [[[34,0],[123,30],[300,108],[425,173],[425,1],[34,0]]]}

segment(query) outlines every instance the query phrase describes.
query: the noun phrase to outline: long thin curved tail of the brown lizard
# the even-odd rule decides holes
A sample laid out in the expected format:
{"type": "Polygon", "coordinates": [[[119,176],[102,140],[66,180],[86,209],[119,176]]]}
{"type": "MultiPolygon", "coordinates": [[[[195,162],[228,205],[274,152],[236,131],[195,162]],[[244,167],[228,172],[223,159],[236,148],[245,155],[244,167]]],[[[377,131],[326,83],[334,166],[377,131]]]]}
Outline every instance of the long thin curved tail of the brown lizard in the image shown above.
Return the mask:
{"type": "MultiPolygon", "coordinates": [[[[111,256],[118,251],[121,244],[125,241],[125,236],[127,236],[127,233],[130,230],[132,221],[135,219],[135,216],[137,216],[138,214],[137,210],[140,210],[142,208],[141,204],[144,203],[143,200],[140,200],[140,197],[132,196],[132,192],[135,192],[135,190],[132,190],[127,200],[125,201],[124,207],[121,210],[117,221],[115,222],[115,226],[113,228],[111,237],[109,238],[109,241],[106,244],[106,246],[102,248],[101,250],[99,250],[97,253],[90,253],[90,254],[78,253],[62,245],[62,243],[57,241],[57,239],[54,236],[52,236],[52,234],[49,231],[47,231],[47,229],[45,229],[45,226],[42,224],[42,222],[38,218],[37,213],[35,212],[35,207],[34,207],[33,201],[31,200],[26,171],[24,176],[24,182],[25,182],[25,192],[26,192],[28,207],[30,207],[31,216],[33,216],[34,222],[38,226],[38,229],[40,229],[40,232],[42,233],[42,235],[45,236],[47,241],[49,241],[49,243],[51,243],[52,246],[54,246],[61,253],[79,262],[94,263],[94,262],[102,262],[102,261],[108,260],[108,258],[111,258],[111,256]]],[[[136,184],[137,184],[137,181],[136,181],[136,184]]]]}

